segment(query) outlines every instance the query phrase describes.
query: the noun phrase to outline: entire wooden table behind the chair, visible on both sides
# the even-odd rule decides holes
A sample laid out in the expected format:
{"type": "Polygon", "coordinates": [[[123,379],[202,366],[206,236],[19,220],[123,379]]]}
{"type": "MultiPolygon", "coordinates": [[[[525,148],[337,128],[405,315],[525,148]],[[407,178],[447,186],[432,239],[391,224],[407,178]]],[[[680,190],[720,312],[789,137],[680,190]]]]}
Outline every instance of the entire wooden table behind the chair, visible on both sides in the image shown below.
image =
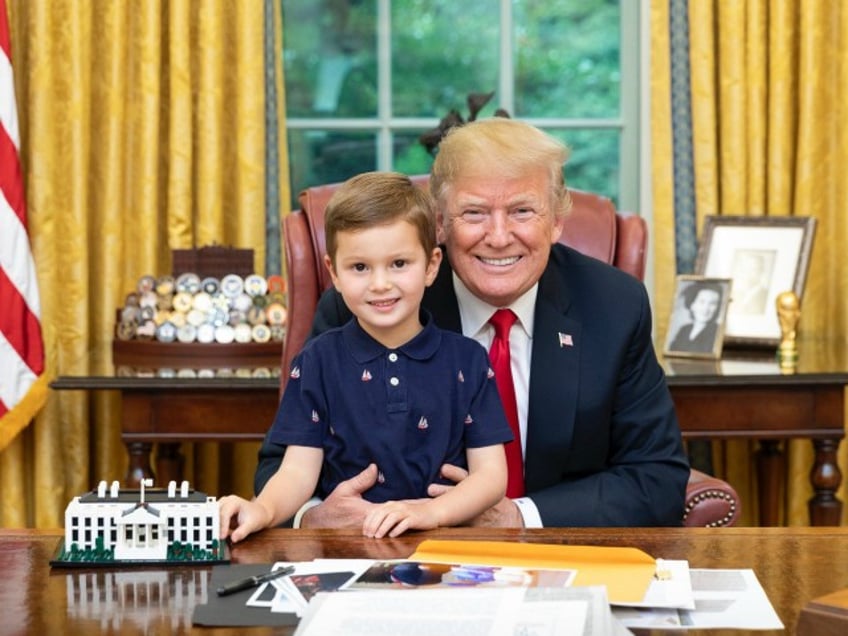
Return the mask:
{"type": "MultiPolygon", "coordinates": [[[[845,435],[848,350],[844,343],[802,341],[795,374],[780,373],[768,353],[728,355],[721,362],[666,360],[668,384],[687,439],[759,440],[759,525],[778,525],[785,462],[779,440],[810,439],[812,525],[839,525],[842,502],[836,491],[842,473],[836,462],[845,435]],[[765,356],[765,357],[764,357],[765,356]]],[[[63,376],[50,386],[62,390],[121,392],[121,437],[129,453],[126,483],[152,476],[150,451],[158,443],[160,483],[182,478],[179,443],[261,440],[279,398],[275,377],[63,376]]],[[[277,370],[278,372],[278,370],[277,370]]]]}

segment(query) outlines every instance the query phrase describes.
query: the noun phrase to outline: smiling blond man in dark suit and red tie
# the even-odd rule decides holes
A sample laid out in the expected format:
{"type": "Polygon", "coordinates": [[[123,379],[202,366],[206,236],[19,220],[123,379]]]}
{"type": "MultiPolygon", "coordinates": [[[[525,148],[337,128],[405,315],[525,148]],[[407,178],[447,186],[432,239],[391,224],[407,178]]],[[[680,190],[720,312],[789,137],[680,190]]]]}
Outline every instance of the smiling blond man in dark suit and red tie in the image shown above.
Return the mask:
{"type": "MultiPolygon", "coordinates": [[[[568,210],[567,149],[527,124],[487,119],[442,141],[430,187],[445,246],[423,306],[436,323],[489,346],[492,312],[509,308],[525,495],[504,498],[479,525],[680,525],[689,466],[651,339],[644,286],[557,243],[568,210]]],[[[338,294],[321,298],[313,333],[344,324],[338,294]]],[[[438,396],[434,396],[438,399],[438,396]]],[[[256,487],[282,448],[260,451],[256,487]]],[[[445,466],[453,481],[464,471],[445,466]]],[[[361,525],[369,467],[297,521],[361,525]]],[[[433,485],[438,496],[449,486],[433,485]]]]}

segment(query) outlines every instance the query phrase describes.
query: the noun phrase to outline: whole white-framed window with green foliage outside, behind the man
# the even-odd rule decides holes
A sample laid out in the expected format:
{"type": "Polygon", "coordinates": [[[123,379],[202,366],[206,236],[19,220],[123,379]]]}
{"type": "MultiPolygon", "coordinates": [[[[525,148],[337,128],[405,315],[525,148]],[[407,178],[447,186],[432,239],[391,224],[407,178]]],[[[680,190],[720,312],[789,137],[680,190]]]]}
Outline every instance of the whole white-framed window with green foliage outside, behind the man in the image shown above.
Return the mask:
{"type": "MultiPolygon", "coordinates": [[[[561,138],[569,185],[638,209],[640,3],[280,0],[292,195],[429,170],[418,136],[469,93],[561,138]]],[[[293,202],[294,203],[294,202],[293,202]]]]}

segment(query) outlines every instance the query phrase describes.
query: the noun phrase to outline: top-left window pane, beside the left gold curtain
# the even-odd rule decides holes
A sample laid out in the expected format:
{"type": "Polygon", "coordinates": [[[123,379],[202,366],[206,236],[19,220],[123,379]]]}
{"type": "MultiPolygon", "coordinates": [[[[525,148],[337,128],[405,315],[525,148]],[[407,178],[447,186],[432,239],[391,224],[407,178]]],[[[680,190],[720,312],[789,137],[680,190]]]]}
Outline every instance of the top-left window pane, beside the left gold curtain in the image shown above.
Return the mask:
{"type": "Polygon", "coordinates": [[[376,0],[285,0],[288,117],[377,114],[376,0]]]}

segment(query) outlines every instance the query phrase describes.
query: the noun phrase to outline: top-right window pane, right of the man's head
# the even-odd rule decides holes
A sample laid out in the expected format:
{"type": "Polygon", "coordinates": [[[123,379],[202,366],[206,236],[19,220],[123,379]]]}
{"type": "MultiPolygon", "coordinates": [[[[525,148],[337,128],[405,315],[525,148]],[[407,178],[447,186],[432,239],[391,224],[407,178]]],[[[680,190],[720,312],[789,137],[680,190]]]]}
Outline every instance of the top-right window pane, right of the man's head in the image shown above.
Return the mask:
{"type": "Polygon", "coordinates": [[[517,117],[617,117],[618,0],[516,0],[517,117]]]}

